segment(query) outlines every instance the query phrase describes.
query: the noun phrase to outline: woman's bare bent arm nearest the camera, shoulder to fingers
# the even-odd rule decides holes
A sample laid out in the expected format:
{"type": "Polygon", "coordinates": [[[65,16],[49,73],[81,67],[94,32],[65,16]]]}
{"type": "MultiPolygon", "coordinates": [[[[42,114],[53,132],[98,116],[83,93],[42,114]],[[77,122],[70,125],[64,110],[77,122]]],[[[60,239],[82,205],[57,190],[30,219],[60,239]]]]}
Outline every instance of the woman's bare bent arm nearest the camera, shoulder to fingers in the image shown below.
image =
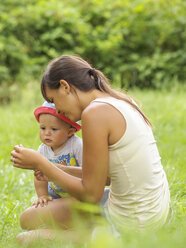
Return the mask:
{"type": "Polygon", "coordinates": [[[83,166],[82,178],[77,178],[53,166],[39,153],[16,147],[12,152],[14,166],[24,169],[38,169],[65,191],[81,201],[99,202],[108,173],[108,139],[111,107],[93,105],[82,114],[83,166]]]}

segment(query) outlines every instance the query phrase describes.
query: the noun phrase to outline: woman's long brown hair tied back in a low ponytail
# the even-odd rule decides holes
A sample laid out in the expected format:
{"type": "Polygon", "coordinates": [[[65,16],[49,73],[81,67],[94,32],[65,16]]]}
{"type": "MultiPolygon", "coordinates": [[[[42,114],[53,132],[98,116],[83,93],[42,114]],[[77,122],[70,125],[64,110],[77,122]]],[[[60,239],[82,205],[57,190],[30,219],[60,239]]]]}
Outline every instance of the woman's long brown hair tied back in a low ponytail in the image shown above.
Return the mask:
{"type": "Polygon", "coordinates": [[[41,92],[43,97],[47,99],[46,87],[50,89],[58,89],[60,87],[60,80],[65,80],[71,86],[75,86],[81,91],[89,91],[98,89],[102,92],[108,93],[110,96],[123,100],[135,108],[144,118],[146,123],[151,126],[150,121],[141,111],[141,109],[132,101],[130,97],[112,89],[108,83],[108,79],[103,73],[77,56],[63,55],[52,60],[41,81],[41,92]]]}

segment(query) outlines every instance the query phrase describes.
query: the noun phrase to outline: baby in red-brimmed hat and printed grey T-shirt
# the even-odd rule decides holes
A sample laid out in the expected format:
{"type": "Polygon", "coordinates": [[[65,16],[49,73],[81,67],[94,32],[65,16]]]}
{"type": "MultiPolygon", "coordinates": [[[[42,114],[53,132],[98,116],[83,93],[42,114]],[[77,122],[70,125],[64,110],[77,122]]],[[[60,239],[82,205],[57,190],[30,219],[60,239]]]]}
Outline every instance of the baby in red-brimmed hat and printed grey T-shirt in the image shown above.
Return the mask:
{"type": "MultiPolygon", "coordinates": [[[[55,163],[54,166],[82,166],[82,139],[74,135],[81,129],[78,123],[71,122],[63,114],[57,114],[53,103],[44,102],[34,111],[40,126],[42,144],[38,152],[55,163]]],[[[37,171],[35,172],[37,175],[37,171]]],[[[43,207],[48,201],[65,197],[67,193],[54,182],[37,180],[34,185],[38,200],[32,206],[43,207]]],[[[43,176],[43,178],[47,179],[43,176]]]]}

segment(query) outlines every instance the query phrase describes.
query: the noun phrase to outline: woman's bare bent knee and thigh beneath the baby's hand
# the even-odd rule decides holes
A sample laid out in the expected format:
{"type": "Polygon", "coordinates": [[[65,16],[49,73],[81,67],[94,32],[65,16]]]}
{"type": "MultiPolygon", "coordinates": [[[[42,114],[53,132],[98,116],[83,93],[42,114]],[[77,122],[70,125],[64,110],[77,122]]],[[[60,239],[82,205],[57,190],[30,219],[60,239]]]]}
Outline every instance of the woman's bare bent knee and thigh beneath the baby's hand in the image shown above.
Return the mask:
{"type": "Polygon", "coordinates": [[[72,197],[59,198],[48,202],[45,207],[30,207],[21,214],[21,227],[26,230],[56,226],[67,229],[72,224],[72,208],[76,202],[77,200],[72,197]]]}

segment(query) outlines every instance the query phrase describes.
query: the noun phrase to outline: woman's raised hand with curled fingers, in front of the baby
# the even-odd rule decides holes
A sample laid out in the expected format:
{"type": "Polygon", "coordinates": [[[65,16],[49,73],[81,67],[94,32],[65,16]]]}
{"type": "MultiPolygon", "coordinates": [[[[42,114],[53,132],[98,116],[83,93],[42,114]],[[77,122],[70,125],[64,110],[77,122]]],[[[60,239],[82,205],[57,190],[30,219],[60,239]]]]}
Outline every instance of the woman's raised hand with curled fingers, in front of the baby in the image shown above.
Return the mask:
{"type": "Polygon", "coordinates": [[[22,169],[36,170],[42,155],[32,149],[24,148],[22,145],[17,145],[11,152],[11,161],[13,166],[22,169]]]}

